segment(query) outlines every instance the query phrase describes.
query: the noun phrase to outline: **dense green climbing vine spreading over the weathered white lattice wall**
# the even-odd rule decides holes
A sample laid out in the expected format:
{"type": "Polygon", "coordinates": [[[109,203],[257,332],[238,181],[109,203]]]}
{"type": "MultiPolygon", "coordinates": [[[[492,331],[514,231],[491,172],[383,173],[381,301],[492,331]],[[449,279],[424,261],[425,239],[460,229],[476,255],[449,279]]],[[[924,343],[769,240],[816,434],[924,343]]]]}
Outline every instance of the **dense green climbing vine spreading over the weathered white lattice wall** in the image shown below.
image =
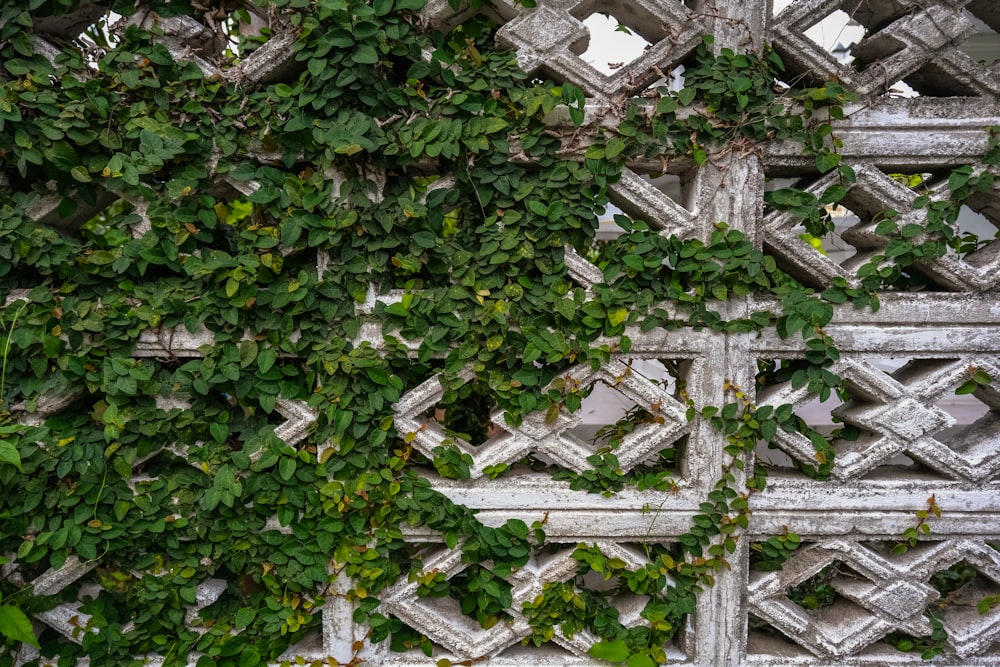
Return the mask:
{"type": "MultiPolygon", "coordinates": [[[[985,126],[978,162],[904,184],[922,217],[871,204],[881,241],[850,280],[821,283],[722,219],[676,234],[617,214],[620,235],[597,241],[625,171],[688,182],[715,169],[721,192],[733,156],[783,141],[824,185],[764,202],[824,252],[831,211],[863,208],[834,132],[858,95],[796,75],[767,44],[738,52],[705,34],[674,55],[680,90],[587,107],[581,87],[525,74],[494,39],[498,11],[542,9],[473,0],[449,24],[423,5],[3,3],[0,665],[302,664],[296,647],[335,598],[366,636],[310,661],[362,664],[376,644],[458,664],[380,604],[407,581],[485,630],[526,619],[527,646],[586,636],[583,657],[592,645],[629,667],[666,662],[738,558],[767,484],[758,445],[804,436],[810,456],[793,468],[822,481],[860,434],[821,433],[794,401],[758,405],[755,392],[847,400],[835,312],[939,290],[921,267],[988,241],[955,227],[995,191],[1000,135],[985,126]],[[771,305],[729,307],[750,297],[771,305]],[[678,428],[723,443],[687,528],[636,540],[640,564],[570,544],[575,570],[515,604],[518,573],[563,548],[548,515],[483,522],[439,482],[530,470],[595,502],[631,489],[669,508],[696,438],[619,460],[630,434],[667,427],[667,403],[606,425],[578,466],[470,452],[498,430],[572,418],[597,385],[625,391],[630,363],[580,378],[628,359],[636,334],[703,331],[773,335],[801,354],[762,359],[712,403],[689,391],[690,362],[665,364],[654,384],[682,406],[678,428]],[[397,404],[428,381],[400,427],[397,404]],[[444,444],[421,447],[435,429],[444,444]],[[460,554],[459,574],[425,567],[432,542],[460,554]],[[623,594],[643,601],[628,622],[623,594]]],[[[970,366],[957,388],[992,381],[970,366]]],[[[917,510],[897,551],[941,511],[933,496],[917,510]]],[[[778,570],[800,542],[776,530],[749,558],[778,570]]],[[[946,635],[934,632],[893,643],[933,657],[946,635]]]]}

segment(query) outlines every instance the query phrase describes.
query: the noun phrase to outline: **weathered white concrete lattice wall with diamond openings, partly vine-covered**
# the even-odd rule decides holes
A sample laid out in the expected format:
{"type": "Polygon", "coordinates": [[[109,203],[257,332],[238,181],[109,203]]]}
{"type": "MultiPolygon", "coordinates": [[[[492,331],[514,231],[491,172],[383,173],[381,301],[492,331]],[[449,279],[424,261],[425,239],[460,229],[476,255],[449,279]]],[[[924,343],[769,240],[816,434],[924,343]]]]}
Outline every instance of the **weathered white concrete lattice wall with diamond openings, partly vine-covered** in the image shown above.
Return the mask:
{"type": "MultiPolygon", "coordinates": [[[[996,8],[985,0],[796,0],[778,12],[772,11],[770,0],[605,4],[540,0],[539,5],[524,9],[497,0],[455,12],[447,0],[431,0],[421,16],[442,28],[459,25],[475,13],[497,21],[502,24],[498,42],[516,52],[521,68],[580,86],[588,98],[588,118],[608,127],[620,121],[617,114],[626,98],[643,96],[658,85],[664,72],[684,63],[704,34],[715,36],[716,48],[738,52],[773,44],[788,65],[789,83],[793,78],[795,82],[836,78],[859,95],[858,102],[845,108],[846,118],[833,123],[835,135],[843,140],[844,163],[857,173],[857,182],[843,202],[857,218],[840,234],[849,247],[846,259],[803,240],[798,221],[787,212],[765,207],[764,192],[771,179],[798,179],[804,190],[821,193],[833,178],[816,174],[812,158],[803,156],[791,142],[763,142],[701,166],[667,164],[668,170],[682,172],[683,201],[643,177],[658,167],[655,159],[628,165],[611,186],[614,203],[631,216],[648,220],[664,236],[707,240],[713,225],[725,221],[763,248],[781,268],[818,289],[837,279],[856,284],[858,267],[885,249],[887,240],[874,231],[877,212],[895,209],[900,224],[917,215],[916,194],[893,174],[940,173],[955,165],[975,164],[986,148],[986,127],[1000,125],[1000,64],[976,62],[960,48],[979,24],[998,28],[996,8]],[[868,35],[851,52],[854,66],[838,63],[804,35],[838,10],[850,15],[868,35]],[[613,14],[639,32],[649,48],[610,75],[584,63],[579,58],[581,42],[587,39],[582,20],[594,12],[613,14]],[[920,96],[899,99],[891,90],[899,81],[920,96]]],[[[86,17],[79,21],[86,23],[86,17]]],[[[75,27],[53,25],[38,31],[34,39],[44,49],[45,39],[55,39],[60,30],[75,27]]],[[[185,49],[197,38],[196,27],[179,19],[164,21],[159,27],[175,57],[195,57],[185,49]]],[[[219,71],[210,59],[195,57],[194,62],[207,76],[247,87],[288,80],[297,74],[288,52],[292,41],[294,31],[278,27],[265,46],[235,69],[219,71]]],[[[553,127],[561,122],[557,112],[553,127]]],[[[335,183],[339,178],[337,174],[328,177],[335,183]]],[[[378,174],[370,176],[374,188],[382,187],[382,179],[378,174]]],[[[261,187],[221,175],[218,181],[220,192],[237,188],[247,195],[261,187]]],[[[946,193],[944,183],[933,188],[931,196],[946,193]]],[[[102,195],[96,206],[107,207],[114,201],[110,194],[102,195]]],[[[978,195],[973,204],[994,225],[1000,225],[998,201],[1000,189],[994,189],[978,195]]],[[[130,229],[141,236],[149,224],[143,203],[129,204],[138,218],[130,229]]],[[[57,205],[56,197],[43,200],[30,211],[31,217],[41,225],[72,230],[93,215],[93,211],[79,211],[76,219],[62,219],[57,205]]],[[[320,258],[320,275],[328,261],[320,258]]],[[[567,264],[574,280],[588,291],[603,280],[601,270],[579,255],[568,256],[567,264]]],[[[964,257],[929,260],[918,268],[929,291],[883,294],[875,313],[843,305],[826,327],[841,351],[831,370],[846,379],[849,400],[817,407],[813,396],[791,382],[766,386],[753,399],[759,405],[791,404],[796,410],[812,405],[823,418],[835,417],[861,435],[852,441],[834,440],[836,463],[826,482],[806,477],[793,465],[793,460],[812,462],[815,456],[812,444],[801,433],[779,433],[775,447],[761,449],[759,456],[770,469],[767,488],[752,497],[749,529],[729,558],[731,569],[720,572],[715,586],[699,596],[686,627],[666,647],[670,664],[919,664],[916,654],[897,651],[886,639],[894,633],[927,635],[931,628],[925,612],[934,609],[940,597],[929,581],[964,563],[975,571],[975,579],[965,593],[969,597],[943,613],[947,646],[932,664],[1000,665],[1000,609],[977,613],[974,599],[976,594],[982,597],[1000,590],[1000,241],[990,241],[964,257]],[[946,404],[967,379],[969,367],[987,371],[993,382],[970,397],[978,410],[973,417],[956,417],[946,404]],[[905,554],[891,554],[891,546],[913,525],[914,513],[925,509],[932,495],[943,514],[932,520],[931,535],[905,554]],[[800,535],[803,546],[784,569],[752,571],[751,544],[786,530],[800,535]],[[834,601],[810,610],[794,600],[795,591],[817,577],[834,601]]],[[[11,294],[8,305],[26,294],[27,290],[11,294]]],[[[358,334],[359,343],[381,343],[373,313],[380,303],[396,303],[402,297],[397,292],[378,294],[374,288],[369,292],[368,299],[357,306],[357,312],[367,318],[358,334]]],[[[773,302],[755,297],[730,298],[718,305],[726,319],[774,307],[773,302]]],[[[400,667],[430,665],[441,659],[498,667],[599,664],[588,656],[595,637],[587,632],[574,636],[557,632],[541,648],[522,645],[530,631],[517,610],[546,583],[574,576],[577,563],[571,554],[578,543],[597,545],[607,557],[638,567],[648,561],[649,545],[670,544],[683,534],[728,460],[724,436],[700,417],[689,420],[687,400],[696,405],[722,405],[728,402],[727,387],[753,391],[759,363],[794,360],[805,353],[797,337],[782,339],[771,331],[726,334],[689,328],[636,329],[628,335],[632,346],[627,354],[614,353],[597,369],[571,367],[560,377],[581,386],[603,385],[626,403],[647,410],[655,406],[660,418],[625,437],[618,458],[622,469],[630,470],[661,450],[675,447],[674,490],[628,488],[604,497],[571,490],[549,474],[516,465],[531,454],[570,471],[586,470],[594,445],[580,435],[581,417],[573,413],[563,412],[556,420],[529,415],[521,426],[512,427],[501,411],[494,411],[490,417],[494,428],[484,442],[456,442],[434,421],[444,389],[433,376],[407,388],[394,408],[396,428],[413,434],[415,447],[429,457],[447,441],[469,454],[473,464],[471,479],[466,481],[428,473],[432,486],[454,502],[479,510],[478,518],[487,525],[500,525],[509,518],[529,525],[544,521],[550,546],[507,578],[514,611],[491,628],[463,614],[454,599],[419,596],[412,581],[401,580],[381,592],[380,611],[425,634],[435,647],[432,658],[416,649],[393,653],[384,643],[367,644],[368,631],[354,623],[352,603],[336,595],[324,603],[321,632],[286,655],[324,661],[333,657],[342,664],[360,658],[366,664],[400,667]],[[666,388],[636,370],[653,360],[671,360],[681,369],[683,397],[675,388],[666,388]],[[498,479],[484,474],[484,468],[497,465],[514,469],[498,479]]],[[[409,343],[414,356],[418,342],[409,343]]],[[[143,333],[134,355],[183,360],[197,358],[202,346],[212,344],[207,332],[160,328],[143,333]]],[[[465,379],[471,380],[471,374],[465,379]]],[[[68,389],[62,395],[45,396],[36,406],[18,406],[17,417],[38,424],[78,400],[80,395],[68,389]]],[[[167,407],[184,407],[179,400],[162,400],[167,407]]],[[[292,447],[306,437],[317,418],[304,401],[283,399],[278,399],[270,416],[275,433],[292,447]]],[[[161,451],[183,457],[183,446],[177,443],[163,443],[161,451]]],[[[159,453],[148,452],[137,467],[159,453]]],[[[141,486],[146,479],[137,473],[134,484],[141,486]]],[[[276,518],[268,527],[286,530],[276,518]]],[[[437,571],[451,578],[470,565],[432,530],[411,529],[406,539],[423,545],[425,572],[437,571]]],[[[57,593],[99,567],[99,558],[90,562],[71,558],[59,570],[30,583],[38,594],[57,593]]],[[[191,618],[218,599],[225,586],[219,580],[203,584],[189,607],[191,618]]],[[[351,582],[337,580],[332,590],[346,592],[350,587],[351,582]]],[[[612,602],[626,626],[647,622],[639,615],[644,601],[637,596],[621,596],[612,602]]],[[[40,614],[38,620],[80,641],[81,615],[78,603],[65,602],[40,614]]],[[[31,652],[25,651],[22,661],[28,657],[31,652]]],[[[158,664],[158,660],[149,656],[148,664],[158,664]]],[[[194,664],[196,657],[191,660],[194,664]]]]}

